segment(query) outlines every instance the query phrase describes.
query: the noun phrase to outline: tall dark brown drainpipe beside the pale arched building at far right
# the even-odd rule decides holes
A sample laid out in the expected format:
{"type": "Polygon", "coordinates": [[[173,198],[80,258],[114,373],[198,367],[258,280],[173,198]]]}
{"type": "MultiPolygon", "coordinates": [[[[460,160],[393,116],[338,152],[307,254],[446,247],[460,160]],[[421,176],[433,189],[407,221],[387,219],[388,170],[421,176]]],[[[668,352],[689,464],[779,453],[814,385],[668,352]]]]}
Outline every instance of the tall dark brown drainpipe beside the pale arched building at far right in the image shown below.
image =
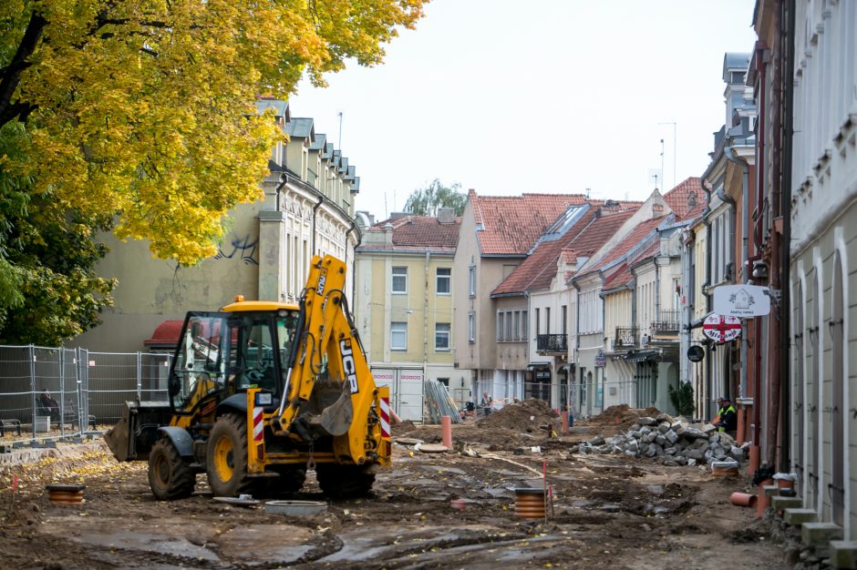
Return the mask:
{"type": "Polygon", "coordinates": [[[790,319],[791,308],[786,288],[791,272],[791,158],[794,140],[794,40],[795,1],[786,3],[788,23],[786,28],[786,69],[783,83],[783,144],[782,144],[782,188],[780,194],[780,216],[782,216],[782,279],[780,279],[780,471],[790,470],[790,319]]]}

